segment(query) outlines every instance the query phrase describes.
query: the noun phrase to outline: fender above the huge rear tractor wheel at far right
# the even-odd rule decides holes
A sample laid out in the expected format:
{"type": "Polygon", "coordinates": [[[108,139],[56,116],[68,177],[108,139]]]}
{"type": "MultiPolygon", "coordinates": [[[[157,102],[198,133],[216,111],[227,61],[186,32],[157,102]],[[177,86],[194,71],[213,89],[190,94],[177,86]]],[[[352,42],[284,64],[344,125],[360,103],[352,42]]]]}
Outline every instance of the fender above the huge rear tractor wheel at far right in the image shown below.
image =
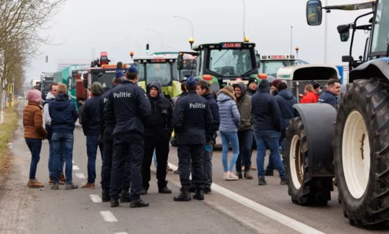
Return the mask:
{"type": "Polygon", "coordinates": [[[350,71],[349,82],[357,79],[370,79],[371,77],[387,79],[389,82],[389,65],[383,60],[373,60],[359,65],[350,71]]]}

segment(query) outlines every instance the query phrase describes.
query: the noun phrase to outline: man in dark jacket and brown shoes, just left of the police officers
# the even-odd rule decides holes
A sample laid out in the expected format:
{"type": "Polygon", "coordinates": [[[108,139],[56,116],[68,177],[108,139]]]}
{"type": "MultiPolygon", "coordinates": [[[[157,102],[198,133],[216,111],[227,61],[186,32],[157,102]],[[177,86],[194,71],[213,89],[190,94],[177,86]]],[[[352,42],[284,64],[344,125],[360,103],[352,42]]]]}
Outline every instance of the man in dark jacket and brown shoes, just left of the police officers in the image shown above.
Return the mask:
{"type": "Polygon", "coordinates": [[[103,156],[103,143],[99,140],[99,108],[103,86],[99,82],[94,82],[90,86],[90,92],[93,97],[84,102],[81,113],[82,130],[86,136],[86,154],[88,156],[88,180],[81,186],[82,188],[95,188],[97,147],[100,148],[100,154],[103,156]]]}

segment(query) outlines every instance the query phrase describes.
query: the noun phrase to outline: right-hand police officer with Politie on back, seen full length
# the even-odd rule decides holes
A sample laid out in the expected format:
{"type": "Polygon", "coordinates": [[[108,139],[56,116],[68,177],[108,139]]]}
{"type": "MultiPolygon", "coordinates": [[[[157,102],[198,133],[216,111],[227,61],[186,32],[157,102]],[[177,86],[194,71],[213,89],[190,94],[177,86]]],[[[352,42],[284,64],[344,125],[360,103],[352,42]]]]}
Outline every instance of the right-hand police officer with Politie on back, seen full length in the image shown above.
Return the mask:
{"type": "Polygon", "coordinates": [[[186,81],[187,95],[180,98],[173,111],[174,131],[178,137],[178,166],[180,168],[181,193],[174,201],[190,201],[190,161],[192,159],[192,184],[196,186],[194,199],[203,200],[203,150],[205,134],[213,124],[207,100],[196,93],[197,82],[191,76],[186,81]]]}

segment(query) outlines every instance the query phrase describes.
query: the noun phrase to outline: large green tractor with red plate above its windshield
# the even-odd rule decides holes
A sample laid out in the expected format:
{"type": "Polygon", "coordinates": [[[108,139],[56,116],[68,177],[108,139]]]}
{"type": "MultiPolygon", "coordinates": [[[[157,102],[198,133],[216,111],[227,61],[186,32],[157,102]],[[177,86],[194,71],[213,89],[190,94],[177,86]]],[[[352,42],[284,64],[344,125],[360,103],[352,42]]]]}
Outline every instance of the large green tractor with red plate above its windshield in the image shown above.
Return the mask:
{"type": "Polygon", "coordinates": [[[250,77],[259,80],[260,56],[255,43],[220,42],[193,47],[194,52],[180,52],[177,58],[178,70],[184,69],[184,55],[195,56],[193,76],[210,83],[213,92],[228,84],[248,82],[250,77]],[[194,67],[196,69],[194,69],[194,67]]]}

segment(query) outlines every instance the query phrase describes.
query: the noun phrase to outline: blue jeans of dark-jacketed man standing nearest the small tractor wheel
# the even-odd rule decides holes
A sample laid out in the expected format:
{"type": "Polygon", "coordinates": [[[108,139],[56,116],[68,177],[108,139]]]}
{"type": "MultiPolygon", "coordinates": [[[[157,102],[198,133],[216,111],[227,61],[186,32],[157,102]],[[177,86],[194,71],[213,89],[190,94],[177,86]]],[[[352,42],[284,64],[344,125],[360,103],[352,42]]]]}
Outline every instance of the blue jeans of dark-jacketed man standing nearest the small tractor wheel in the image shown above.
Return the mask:
{"type": "Polygon", "coordinates": [[[263,167],[266,155],[266,145],[269,147],[269,160],[273,162],[274,167],[278,169],[281,178],[285,177],[284,165],[280,156],[280,132],[276,130],[255,130],[255,139],[257,141],[257,167],[258,178],[265,176],[265,168],[263,167]]]}

